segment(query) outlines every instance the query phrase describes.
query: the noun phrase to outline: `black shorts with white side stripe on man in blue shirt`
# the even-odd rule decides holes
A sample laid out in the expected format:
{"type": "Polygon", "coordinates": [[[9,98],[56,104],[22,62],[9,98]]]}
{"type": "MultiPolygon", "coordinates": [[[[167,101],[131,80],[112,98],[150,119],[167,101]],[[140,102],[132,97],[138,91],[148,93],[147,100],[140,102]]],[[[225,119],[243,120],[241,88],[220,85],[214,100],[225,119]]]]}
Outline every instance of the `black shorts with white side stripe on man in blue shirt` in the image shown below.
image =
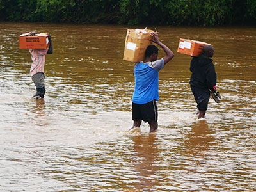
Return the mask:
{"type": "Polygon", "coordinates": [[[157,122],[157,117],[156,100],[152,100],[146,104],[136,104],[132,102],[132,120],[143,120],[144,122],[154,120],[157,122]]]}

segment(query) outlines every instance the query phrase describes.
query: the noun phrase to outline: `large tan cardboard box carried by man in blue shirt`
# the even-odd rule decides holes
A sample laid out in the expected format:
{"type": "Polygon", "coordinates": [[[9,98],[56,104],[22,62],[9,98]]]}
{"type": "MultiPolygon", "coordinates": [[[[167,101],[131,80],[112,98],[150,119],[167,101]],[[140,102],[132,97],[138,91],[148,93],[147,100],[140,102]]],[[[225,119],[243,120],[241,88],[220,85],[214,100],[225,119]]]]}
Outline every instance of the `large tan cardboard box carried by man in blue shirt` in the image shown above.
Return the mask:
{"type": "Polygon", "coordinates": [[[149,29],[127,29],[124,47],[123,60],[131,62],[140,62],[145,58],[145,51],[150,44],[152,36],[150,33],[154,31],[149,29]],[[142,33],[141,31],[145,31],[142,33]]]}

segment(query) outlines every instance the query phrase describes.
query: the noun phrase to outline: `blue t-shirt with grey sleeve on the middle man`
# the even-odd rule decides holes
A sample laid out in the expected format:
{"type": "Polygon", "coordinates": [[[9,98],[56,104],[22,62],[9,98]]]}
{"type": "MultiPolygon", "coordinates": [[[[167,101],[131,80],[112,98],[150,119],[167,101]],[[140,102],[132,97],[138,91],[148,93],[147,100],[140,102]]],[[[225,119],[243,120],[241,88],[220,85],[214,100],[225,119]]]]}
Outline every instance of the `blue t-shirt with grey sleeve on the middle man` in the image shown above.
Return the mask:
{"type": "Polygon", "coordinates": [[[164,68],[164,60],[136,63],[134,66],[135,88],[132,102],[145,104],[152,100],[159,100],[158,72],[164,68]]]}

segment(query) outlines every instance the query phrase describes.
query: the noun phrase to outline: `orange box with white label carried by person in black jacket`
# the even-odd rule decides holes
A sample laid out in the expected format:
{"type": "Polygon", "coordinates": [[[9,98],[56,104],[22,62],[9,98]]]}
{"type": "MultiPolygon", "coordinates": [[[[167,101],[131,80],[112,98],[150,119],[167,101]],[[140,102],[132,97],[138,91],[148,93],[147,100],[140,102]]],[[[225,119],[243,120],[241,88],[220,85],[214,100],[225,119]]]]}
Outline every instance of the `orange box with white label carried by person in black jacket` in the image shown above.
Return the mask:
{"type": "Polygon", "coordinates": [[[188,54],[190,56],[198,56],[203,51],[203,47],[205,45],[211,45],[211,44],[180,38],[177,52],[180,52],[182,54],[188,54]]]}

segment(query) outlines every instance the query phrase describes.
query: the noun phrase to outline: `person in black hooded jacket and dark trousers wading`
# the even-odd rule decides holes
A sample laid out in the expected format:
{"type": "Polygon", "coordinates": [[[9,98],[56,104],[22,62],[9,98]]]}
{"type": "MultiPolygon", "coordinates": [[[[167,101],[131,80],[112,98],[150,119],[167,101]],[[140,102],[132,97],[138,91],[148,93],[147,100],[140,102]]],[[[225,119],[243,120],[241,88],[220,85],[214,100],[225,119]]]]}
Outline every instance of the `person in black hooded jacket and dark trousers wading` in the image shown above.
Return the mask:
{"type": "Polygon", "coordinates": [[[190,63],[192,74],[189,84],[197,103],[198,118],[204,118],[211,92],[216,92],[217,76],[211,59],[213,55],[214,48],[205,45],[202,54],[193,57],[190,63]]]}

